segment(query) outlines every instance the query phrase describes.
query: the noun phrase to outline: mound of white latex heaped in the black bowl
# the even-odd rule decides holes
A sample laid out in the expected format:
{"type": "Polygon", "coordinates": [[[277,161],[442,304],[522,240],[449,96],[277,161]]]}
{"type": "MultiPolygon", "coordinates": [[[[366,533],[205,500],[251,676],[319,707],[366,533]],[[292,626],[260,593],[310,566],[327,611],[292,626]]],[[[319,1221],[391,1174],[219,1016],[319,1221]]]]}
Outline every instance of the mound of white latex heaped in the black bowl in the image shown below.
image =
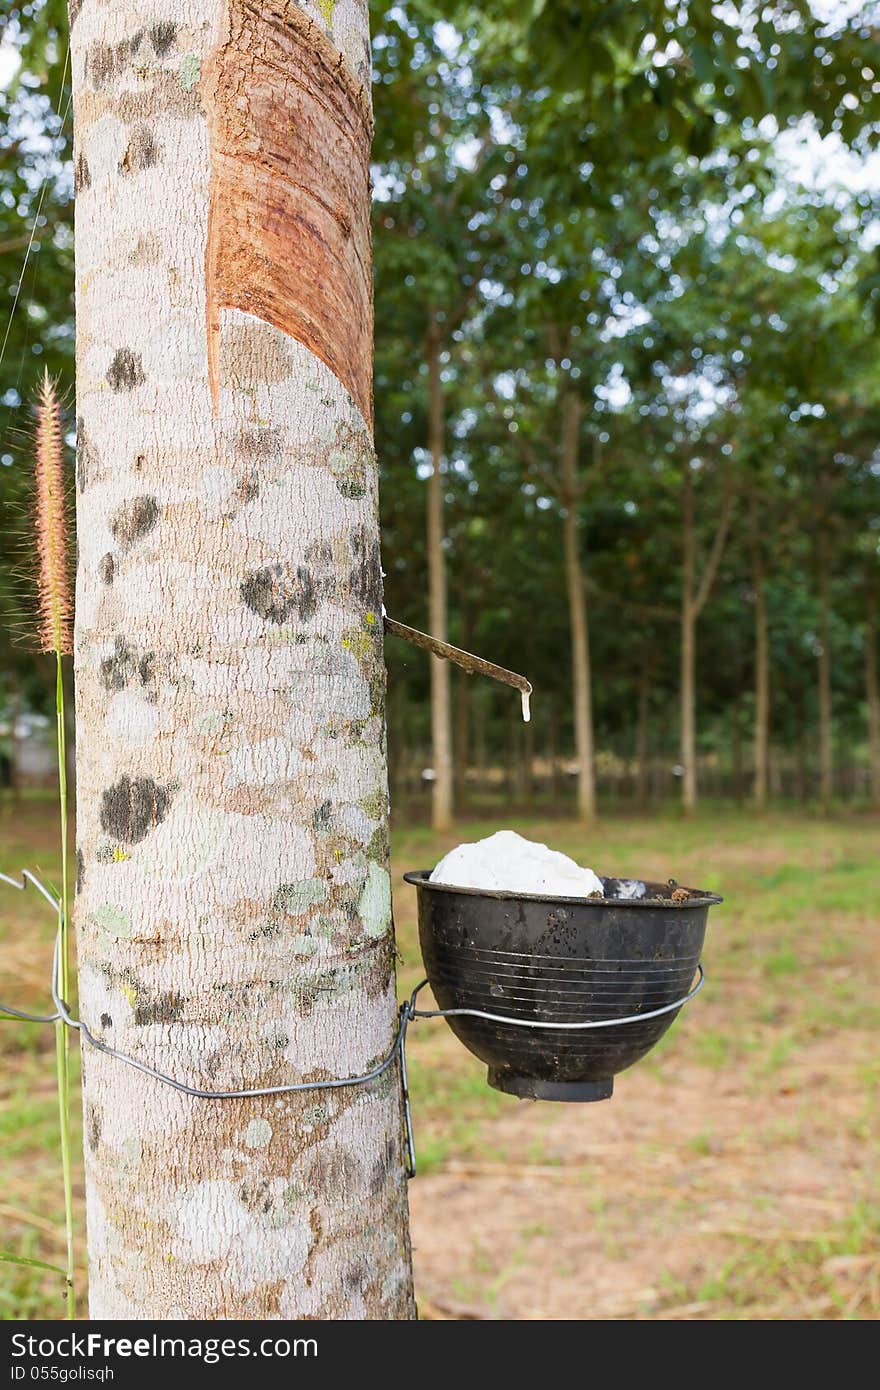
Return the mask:
{"type": "Polygon", "coordinates": [[[499,830],[487,840],[450,849],[432,870],[431,883],[548,898],[588,898],[602,892],[592,869],[581,869],[567,855],[524,840],[514,830],[499,830]]]}

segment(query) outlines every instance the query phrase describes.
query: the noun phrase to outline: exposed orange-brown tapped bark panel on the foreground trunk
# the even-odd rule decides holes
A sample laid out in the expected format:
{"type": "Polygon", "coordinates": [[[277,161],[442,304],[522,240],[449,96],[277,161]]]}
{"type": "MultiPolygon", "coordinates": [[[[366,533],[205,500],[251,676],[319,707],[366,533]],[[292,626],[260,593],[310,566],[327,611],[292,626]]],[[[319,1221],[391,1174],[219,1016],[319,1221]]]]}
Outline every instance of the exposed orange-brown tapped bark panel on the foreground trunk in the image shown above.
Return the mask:
{"type": "Polygon", "coordinates": [[[228,0],[204,92],[214,407],[220,311],[241,309],[327,363],[373,425],[371,114],[364,88],[296,6],[228,0]]]}

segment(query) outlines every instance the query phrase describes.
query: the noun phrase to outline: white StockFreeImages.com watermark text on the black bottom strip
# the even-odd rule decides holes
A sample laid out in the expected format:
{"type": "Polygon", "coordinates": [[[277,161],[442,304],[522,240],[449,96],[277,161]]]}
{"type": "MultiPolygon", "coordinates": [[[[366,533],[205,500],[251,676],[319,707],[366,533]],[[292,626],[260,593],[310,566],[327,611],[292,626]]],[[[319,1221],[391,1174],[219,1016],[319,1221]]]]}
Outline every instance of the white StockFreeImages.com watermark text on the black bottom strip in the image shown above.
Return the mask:
{"type": "MultiPolygon", "coordinates": [[[[156,1332],[147,1337],[106,1337],[100,1332],[72,1332],[58,1337],[39,1337],[25,1332],[15,1332],[10,1340],[13,1380],[60,1379],[57,1375],[32,1375],[32,1372],[46,1369],[44,1366],[28,1365],[28,1362],[35,1361],[56,1362],[72,1358],[107,1361],[115,1357],[143,1361],[179,1358],[182,1361],[202,1361],[204,1365],[211,1366],[217,1365],[218,1361],[231,1361],[236,1357],[263,1357],[284,1361],[288,1357],[317,1357],[318,1354],[318,1344],[314,1337],[163,1337],[156,1332]],[[24,1364],[21,1364],[22,1361],[24,1364]]],[[[65,1379],[90,1380],[97,1379],[97,1369],[104,1368],[82,1366],[79,1369],[83,1375],[78,1377],[72,1375],[74,1369],[76,1369],[74,1366],[54,1366],[51,1369],[67,1369],[68,1376],[65,1379]],[[89,1371],[95,1373],[89,1376],[89,1371]]],[[[106,1379],[113,1379],[113,1369],[107,1369],[110,1371],[110,1376],[106,1379]]]]}

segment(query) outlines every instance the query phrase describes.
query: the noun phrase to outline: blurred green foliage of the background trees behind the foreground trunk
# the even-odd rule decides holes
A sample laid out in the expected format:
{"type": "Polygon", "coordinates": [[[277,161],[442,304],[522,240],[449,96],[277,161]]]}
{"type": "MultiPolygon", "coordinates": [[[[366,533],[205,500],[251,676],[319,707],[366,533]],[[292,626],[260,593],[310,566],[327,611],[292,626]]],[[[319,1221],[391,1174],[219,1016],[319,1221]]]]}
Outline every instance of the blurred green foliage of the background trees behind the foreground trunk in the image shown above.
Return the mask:
{"type": "MultiPolygon", "coordinates": [[[[863,620],[880,531],[877,208],[847,188],[799,188],[780,163],[779,132],[806,122],[856,154],[876,147],[880,42],[869,7],[836,19],[817,18],[806,0],[407,0],[371,10],[389,612],[427,621],[434,334],[452,637],[527,669],[538,748],[571,738],[559,407],[577,392],[574,505],[601,756],[631,759],[646,689],[651,748],[674,762],[687,468],[701,563],[726,491],[738,498],[701,621],[705,756],[728,759],[751,731],[752,502],[767,574],[773,739],[809,774],[816,539],[826,535],[838,742],[862,756],[863,620]]],[[[72,381],[74,341],[67,7],[28,0],[4,18],[3,42],[21,61],[0,90],[0,342],[10,328],[0,363],[0,706],[14,688],[31,702],[43,678],[8,641],[28,603],[17,569],[22,432],[43,366],[72,381]]],[[[427,749],[427,663],[393,642],[388,660],[392,726],[427,749]]],[[[481,724],[492,758],[507,756],[506,696],[466,688],[471,726],[481,724]]]]}

